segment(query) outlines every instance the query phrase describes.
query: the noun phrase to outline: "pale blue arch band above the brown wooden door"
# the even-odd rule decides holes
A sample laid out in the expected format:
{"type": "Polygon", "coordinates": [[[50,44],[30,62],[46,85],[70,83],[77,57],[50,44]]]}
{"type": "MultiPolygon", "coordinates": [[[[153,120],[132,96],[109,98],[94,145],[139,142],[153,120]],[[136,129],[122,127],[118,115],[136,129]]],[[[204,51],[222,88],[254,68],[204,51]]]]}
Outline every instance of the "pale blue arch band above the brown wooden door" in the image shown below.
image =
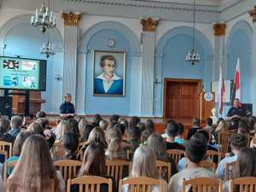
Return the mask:
{"type": "MultiPolygon", "coordinates": [[[[175,37],[176,35],[193,35],[193,28],[189,26],[177,26],[175,28],[170,29],[167,31],[159,40],[157,47],[156,47],[156,53],[157,55],[161,55],[163,53],[163,50],[165,48],[165,45],[167,44],[168,40],[170,38],[175,37]]],[[[206,50],[206,53],[212,57],[212,45],[205,36],[204,33],[200,32],[199,30],[195,29],[195,38],[196,40],[201,44],[201,46],[206,50]]]]}

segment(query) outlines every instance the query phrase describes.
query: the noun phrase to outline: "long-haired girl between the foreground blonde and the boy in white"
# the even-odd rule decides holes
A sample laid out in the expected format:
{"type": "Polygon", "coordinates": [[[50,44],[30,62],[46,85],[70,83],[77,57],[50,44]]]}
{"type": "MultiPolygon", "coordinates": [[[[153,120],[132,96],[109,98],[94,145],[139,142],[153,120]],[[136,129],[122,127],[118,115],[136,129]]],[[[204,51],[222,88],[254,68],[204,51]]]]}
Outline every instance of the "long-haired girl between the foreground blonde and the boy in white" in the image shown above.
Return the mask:
{"type": "MultiPolygon", "coordinates": [[[[148,143],[148,147],[151,148],[151,150],[154,152],[156,156],[156,160],[162,160],[162,161],[171,163],[171,166],[172,166],[171,174],[174,175],[177,172],[177,167],[175,165],[175,162],[166,152],[166,143],[164,141],[164,138],[154,132],[148,137],[147,143],[148,143]]],[[[167,177],[167,172],[164,178],[166,179],[166,177],[167,177]]]]}

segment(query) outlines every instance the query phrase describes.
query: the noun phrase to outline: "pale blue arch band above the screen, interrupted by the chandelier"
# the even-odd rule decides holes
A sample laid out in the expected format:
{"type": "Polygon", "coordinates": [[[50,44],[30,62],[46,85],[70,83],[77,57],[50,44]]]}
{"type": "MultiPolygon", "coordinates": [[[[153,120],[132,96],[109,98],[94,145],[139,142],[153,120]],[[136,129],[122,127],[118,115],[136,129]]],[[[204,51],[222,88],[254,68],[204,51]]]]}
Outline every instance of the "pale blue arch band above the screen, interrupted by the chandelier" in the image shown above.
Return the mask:
{"type": "MultiPolygon", "coordinates": [[[[10,20],[7,20],[0,30],[0,44],[4,44],[5,38],[8,36],[8,33],[15,27],[19,26],[22,23],[28,23],[32,15],[17,15],[10,20]]],[[[63,41],[61,38],[61,33],[55,27],[52,31],[53,37],[56,39],[55,48],[63,49],[63,41]]]]}

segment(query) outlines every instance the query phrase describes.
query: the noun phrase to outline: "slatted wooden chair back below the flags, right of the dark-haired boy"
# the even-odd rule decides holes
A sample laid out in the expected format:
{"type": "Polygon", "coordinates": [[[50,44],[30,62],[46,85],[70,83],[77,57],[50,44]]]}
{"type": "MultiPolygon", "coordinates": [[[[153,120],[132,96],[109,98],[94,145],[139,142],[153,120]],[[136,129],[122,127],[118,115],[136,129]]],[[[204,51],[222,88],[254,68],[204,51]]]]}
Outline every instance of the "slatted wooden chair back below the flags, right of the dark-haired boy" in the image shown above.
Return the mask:
{"type": "Polygon", "coordinates": [[[231,134],[230,131],[221,131],[218,133],[218,152],[221,154],[221,157],[224,157],[224,154],[229,152],[229,138],[231,134]]]}

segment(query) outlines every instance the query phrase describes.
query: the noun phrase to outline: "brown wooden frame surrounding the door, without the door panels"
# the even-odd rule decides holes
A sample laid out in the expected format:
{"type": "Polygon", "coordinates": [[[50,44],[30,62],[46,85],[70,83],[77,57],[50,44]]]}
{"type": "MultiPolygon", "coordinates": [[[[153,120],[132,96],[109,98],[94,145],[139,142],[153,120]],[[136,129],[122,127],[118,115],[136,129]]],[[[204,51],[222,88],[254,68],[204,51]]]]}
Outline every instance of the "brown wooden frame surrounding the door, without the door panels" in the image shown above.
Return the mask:
{"type": "MultiPolygon", "coordinates": [[[[202,87],[201,87],[201,79],[170,79],[170,78],[165,78],[164,79],[164,106],[163,106],[163,109],[164,109],[164,116],[163,118],[166,118],[166,89],[167,89],[167,83],[169,82],[176,82],[176,83],[197,83],[197,87],[198,87],[198,97],[200,96],[201,94],[201,91],[202,91],[202,87]]],[[[198,115],[199,115],[199,104],[200,104],[200,99],[198,98],[198,115]]]]}

